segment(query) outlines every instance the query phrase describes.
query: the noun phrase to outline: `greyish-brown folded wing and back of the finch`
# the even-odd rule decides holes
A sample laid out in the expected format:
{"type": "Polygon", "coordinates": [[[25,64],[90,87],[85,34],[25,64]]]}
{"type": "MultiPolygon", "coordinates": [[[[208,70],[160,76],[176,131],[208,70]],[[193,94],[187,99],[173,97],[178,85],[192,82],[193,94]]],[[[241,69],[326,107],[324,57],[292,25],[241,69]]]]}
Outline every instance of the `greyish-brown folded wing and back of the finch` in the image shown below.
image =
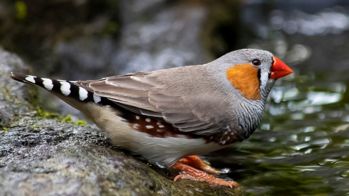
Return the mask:
{"type": "Polygon", "coordinates": [[[203,73],[202,66],[187,66],[75,84],[128,110],[171,123],[180,131],[209,135],[228,122],[229,102],[203,73]]]}

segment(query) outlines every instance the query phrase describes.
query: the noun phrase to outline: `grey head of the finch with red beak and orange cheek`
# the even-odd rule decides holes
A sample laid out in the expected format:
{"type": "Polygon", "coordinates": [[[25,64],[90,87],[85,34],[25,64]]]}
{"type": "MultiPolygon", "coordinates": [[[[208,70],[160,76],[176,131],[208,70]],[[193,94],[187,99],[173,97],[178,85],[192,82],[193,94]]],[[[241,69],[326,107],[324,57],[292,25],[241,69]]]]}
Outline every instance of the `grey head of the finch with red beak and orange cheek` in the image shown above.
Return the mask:
{"type": "MultiPolygon", "coordinates": [[[[275,81],[293,71],[272,53],[243,49],[225,54],[212,62],[225,78],[247,99],[265,100],[275,81]]],[[[218,71],[218,70],[217,70],[218,71]]]]}

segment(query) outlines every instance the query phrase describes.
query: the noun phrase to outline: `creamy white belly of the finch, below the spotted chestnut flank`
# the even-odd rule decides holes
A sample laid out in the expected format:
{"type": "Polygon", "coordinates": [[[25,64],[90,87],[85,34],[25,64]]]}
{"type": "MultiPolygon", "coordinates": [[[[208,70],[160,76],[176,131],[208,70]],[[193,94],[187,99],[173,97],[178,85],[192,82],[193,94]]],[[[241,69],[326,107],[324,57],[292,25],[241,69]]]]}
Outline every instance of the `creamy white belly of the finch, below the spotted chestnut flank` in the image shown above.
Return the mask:
{"type": "Polygon", "coordinates": [[[226,147],[214,142],[206,143],[202,138],[152,137],[134,130],[111,107],[89,104],[88,111],[85,113],[90,114],[91,120],[106,132],[114,145],[141,155],[150,163],[169,167],[184,156],[206,154],[226,147]]]}

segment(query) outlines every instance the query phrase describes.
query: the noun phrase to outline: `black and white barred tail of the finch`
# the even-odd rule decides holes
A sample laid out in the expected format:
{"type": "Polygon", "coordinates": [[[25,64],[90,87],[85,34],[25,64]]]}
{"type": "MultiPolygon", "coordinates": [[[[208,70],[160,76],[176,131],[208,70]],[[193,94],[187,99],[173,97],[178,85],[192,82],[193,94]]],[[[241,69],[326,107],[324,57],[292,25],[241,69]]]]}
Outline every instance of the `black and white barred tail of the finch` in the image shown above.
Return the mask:
{"type": "Polygon", "coordinates": [[[21,75],[15,73],[11,74],[12,76],[10,77],[13,80],[41,86],[48,91],[59,93],[77,101],[93,102],[96,104],[99,104],[101,102],[100,96],[95,95],[95,93],[75,85],[74,83],[76,83],[76,81],[51,80],[49,78],[40,78],[31,75],[21,75]]]}

